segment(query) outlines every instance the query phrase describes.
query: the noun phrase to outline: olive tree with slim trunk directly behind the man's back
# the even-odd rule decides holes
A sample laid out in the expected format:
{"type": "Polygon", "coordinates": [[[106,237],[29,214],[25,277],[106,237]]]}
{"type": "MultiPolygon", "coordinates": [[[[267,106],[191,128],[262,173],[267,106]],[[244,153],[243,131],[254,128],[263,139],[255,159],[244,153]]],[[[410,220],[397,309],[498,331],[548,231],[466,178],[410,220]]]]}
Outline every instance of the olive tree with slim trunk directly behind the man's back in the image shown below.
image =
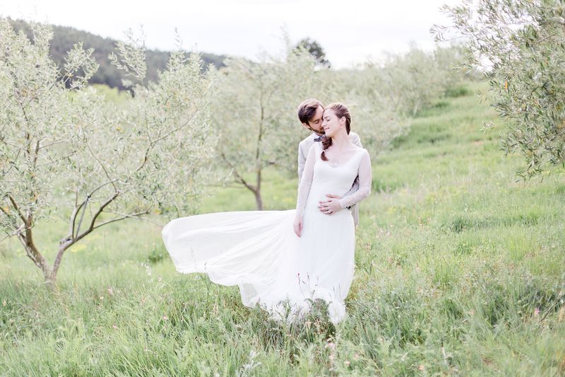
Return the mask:
{"type": "Polygon", "coordinates": [[[218,151],[261,210],[263,170],[296,171],[297,147],[304,138],[297,106],[321,93],[322,83],[314,57],[302,48],[287,47],[282,57],[264,53],[258,62],[229,58],[225,65],[218,72],[212,112],[218,151]]]}

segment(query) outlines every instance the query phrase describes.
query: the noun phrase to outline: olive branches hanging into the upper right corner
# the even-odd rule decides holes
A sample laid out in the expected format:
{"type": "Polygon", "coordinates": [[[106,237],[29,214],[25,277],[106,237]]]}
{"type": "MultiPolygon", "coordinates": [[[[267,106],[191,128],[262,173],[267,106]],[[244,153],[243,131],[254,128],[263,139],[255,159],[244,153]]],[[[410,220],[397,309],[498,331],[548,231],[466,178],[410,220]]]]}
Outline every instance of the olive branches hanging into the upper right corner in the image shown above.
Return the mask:
{"type": "Polygon", "coordinates": [[[518,175],[564,165],[564,2],[464,0],[444,11],[453,23],[432,32],[437,40],[468,41],[465,66],[484,71],[492,107],[509,126],[502,149],[525,159],[518,175]]]}

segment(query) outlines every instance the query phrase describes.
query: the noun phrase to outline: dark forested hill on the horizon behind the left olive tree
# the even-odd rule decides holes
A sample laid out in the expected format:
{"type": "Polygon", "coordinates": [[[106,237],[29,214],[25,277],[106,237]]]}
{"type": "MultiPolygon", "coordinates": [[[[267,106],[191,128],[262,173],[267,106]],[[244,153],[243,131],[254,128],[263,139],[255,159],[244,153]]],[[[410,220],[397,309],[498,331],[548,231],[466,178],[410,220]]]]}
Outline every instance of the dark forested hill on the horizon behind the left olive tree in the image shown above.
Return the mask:
{"type": "MultiPolygon", "coordinates": [[[[10,20],[10,22],[16,31],[23,30],[28,37],[32,36],[30,26],[27,22],[20,20],[10,20]]],[[[123,73],[110,64],[108,59],[108,54],[114,51],[117,40],[100,37],[100,35],[67,26],[53,25],[53,33],[54,37],[51,41],[49,52],[52,55],[52,59],[57,62],[57,64],[60,66],[64,64],[66,52],[71,50],[73,44],[83,42],[85,49],[93,47],[94,57],[98,64],[100,64],[100,68],[89,80],[89,83],[103,83],[111,88],[124,89],[124,85],[121,83],[123,73]]],[[[145,83],[147,81],[157,81],[157,71],[163,71],[167,67],[169,52],[147,50],[146,53],[147,77],[145,78],[145,83]]],[[[208,66],[210,63],[218,68],[224,66],[224,55],[201,53],[201,57],[205,66],[208,66]]]]}

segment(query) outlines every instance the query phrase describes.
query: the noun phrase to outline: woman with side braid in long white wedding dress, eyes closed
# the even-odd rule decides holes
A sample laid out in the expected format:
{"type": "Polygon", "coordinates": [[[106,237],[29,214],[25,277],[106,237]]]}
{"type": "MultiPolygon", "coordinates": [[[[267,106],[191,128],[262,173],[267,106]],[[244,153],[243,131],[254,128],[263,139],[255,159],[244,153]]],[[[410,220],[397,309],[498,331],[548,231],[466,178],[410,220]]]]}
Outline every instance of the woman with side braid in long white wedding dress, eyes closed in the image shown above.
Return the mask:
{"type": "Polygon", "coordinates": [[[204,272],[217,284],[237,285],[245,306],[259,305],[279,320],[303,315],[317,299],[328,303],[333,323],[342,320],[355,262],[355,226],[347,207],[371,192],[369,153],[351,143],[350,122],[341,103],[324,110],[326,137],[309,150],[296,209],[170,221],[162,237],[177,271],[204,272]],[[357,175],[357,192],[326,197],[343,196],[357,175]]]}

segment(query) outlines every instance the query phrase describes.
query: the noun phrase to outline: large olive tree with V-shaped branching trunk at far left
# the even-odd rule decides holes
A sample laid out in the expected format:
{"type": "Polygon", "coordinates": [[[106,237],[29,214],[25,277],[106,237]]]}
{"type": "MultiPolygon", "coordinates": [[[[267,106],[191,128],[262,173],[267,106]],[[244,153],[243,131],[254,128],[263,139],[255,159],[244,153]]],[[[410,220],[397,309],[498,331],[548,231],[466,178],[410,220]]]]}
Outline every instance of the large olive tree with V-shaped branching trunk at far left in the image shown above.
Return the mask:
{"type": "Polygon", "coordinates": [[[181,51],[158,83],[133,84],[146,67],[130,32],[109,57],[130,77],[131,98],[117,108],[87,86],[93,50],[75,45],[59,67],[49,58],[52,29],[35,23],[32,32],[29,40],[0,18],[0,228],[52,286],[65,251],[102,226],[191,209],[215,145],[213,73],[181,51]],[[67,230],[48,262],[34,227],[54,217],[67,230]]]}

